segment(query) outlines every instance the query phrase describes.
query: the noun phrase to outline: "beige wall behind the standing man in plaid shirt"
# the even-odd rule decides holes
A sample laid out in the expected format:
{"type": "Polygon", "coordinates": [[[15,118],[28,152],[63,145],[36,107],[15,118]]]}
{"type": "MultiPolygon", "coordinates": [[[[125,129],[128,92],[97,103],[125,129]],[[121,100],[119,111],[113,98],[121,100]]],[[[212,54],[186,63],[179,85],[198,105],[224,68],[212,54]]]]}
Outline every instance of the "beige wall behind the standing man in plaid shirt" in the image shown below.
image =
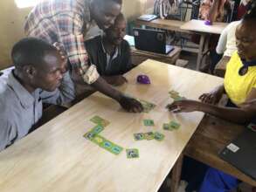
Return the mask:
{"type": "MultiPolygon", "coordinates": [[[[133,19],[153,7],[154,0],[123,0],[123,12],[133,19]]],[[[31,8],[18,9],[14,0],[0,0],[0,69],[11,64],[10,50],[24,37],[23,24],[31,8]]]]}

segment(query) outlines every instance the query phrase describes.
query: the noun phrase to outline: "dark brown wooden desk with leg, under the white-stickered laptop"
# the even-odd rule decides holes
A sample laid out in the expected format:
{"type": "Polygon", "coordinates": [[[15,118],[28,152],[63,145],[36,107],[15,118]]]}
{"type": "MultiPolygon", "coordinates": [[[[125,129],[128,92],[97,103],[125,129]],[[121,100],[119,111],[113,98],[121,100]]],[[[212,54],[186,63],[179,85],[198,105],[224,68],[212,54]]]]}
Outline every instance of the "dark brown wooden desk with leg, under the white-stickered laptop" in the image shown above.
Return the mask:
{"type": "Polygon", "coordinates": [[[240,181],[256,186],[256,181],[245,175],[238,168],[234,168],[230,163],[219,158],[218,153],[232,140],[243,132],[245,127],[221,120],[211,115],[205,115],[197,127],[197,131],[191,137],[188,145],[184,148],[173,168],[172,192],[176,192],[180,181],[183,155],[201,161],[212,168],[222,170],[226,174],[239,178],[240,181]]]}

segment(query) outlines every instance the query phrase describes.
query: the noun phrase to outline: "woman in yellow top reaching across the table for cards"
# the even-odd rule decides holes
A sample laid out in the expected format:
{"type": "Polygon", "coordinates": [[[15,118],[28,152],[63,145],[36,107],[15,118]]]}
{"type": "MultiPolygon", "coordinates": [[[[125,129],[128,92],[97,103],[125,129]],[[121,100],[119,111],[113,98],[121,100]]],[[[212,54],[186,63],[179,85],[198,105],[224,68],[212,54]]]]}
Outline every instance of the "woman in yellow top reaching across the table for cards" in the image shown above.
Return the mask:
{"type": "Polygon", "coordinates": [[[244,102],[256,99],[256,7],[250,10],[236,30],[238,51],[234,52],[225,72],[224,85],[197,100],[180,100],[167,107],[175,113],[201,111],[225,120],[246,123],[256,111],[245,107],[244,102]],[[232,105],[217,106],[226,93],[232,105]],[[230,107],[237,106],[237,107],[230,107]]]}

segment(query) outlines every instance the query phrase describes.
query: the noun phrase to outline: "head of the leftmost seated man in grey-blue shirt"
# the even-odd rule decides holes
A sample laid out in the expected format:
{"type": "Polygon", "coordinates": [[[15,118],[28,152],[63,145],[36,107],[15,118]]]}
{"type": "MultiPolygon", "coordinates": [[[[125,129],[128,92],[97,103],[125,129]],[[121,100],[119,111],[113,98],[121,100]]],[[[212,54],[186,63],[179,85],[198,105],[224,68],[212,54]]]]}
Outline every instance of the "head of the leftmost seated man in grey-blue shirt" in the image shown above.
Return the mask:
{"type": "Polygon", "coordinates": [[[66,59],[53,45],[38,38],[24,38],[13,46],[11,58],[15,73],[24,86],[52,92],[66,72],[66,59]]]}

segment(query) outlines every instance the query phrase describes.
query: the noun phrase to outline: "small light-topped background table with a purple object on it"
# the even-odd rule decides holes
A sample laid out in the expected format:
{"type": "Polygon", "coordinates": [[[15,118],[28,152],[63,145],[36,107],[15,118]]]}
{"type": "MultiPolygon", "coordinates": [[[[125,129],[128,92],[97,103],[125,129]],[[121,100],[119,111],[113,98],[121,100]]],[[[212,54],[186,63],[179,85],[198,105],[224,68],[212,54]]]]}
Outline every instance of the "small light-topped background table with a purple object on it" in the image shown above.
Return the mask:
{"type": "Polygon", "coordinates": [[[200,35],[199,51],[197,54],[197,70],[200,69],[200,65],[203,62],[204,52],[208,49],[210,39],[209,34],[221,34],[226,26],[227,23],[214,22],[212,25],[206,25],[203,20],[192,19],[180,27],[183,31],[192,31],[200,35]]]}

